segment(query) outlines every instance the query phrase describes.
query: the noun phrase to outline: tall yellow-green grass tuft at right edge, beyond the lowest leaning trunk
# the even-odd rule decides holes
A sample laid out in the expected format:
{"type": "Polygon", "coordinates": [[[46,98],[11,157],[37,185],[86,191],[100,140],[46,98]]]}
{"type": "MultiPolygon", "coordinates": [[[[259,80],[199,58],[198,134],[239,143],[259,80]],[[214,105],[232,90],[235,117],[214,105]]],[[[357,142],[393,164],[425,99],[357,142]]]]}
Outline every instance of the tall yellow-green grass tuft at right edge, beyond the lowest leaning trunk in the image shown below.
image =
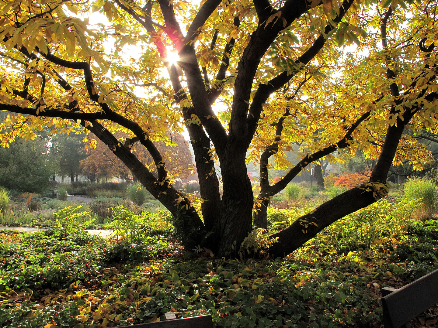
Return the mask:
{"type": "Polygon", "coordinates": [[[432,181],[414,178],[406,181],[402,187],[402,199],[421,199],[421,205],[413,214],[416,220],[424,221],[431,219],[437,202],[437,189],[432,181]]]}

